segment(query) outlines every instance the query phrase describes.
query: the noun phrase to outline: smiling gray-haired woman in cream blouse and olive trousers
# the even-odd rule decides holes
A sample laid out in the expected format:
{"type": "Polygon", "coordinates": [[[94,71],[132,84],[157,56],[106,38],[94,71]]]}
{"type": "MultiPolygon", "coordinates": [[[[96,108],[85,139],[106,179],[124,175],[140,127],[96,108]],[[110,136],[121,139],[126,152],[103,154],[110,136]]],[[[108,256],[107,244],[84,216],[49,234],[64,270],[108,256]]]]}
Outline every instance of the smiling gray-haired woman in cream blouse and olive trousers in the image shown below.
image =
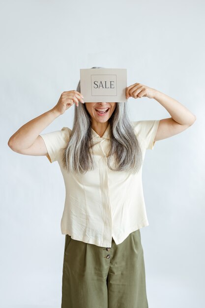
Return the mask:
{"type": "Polygon", "coordinates": [[[57,160],[64,178],[61,308],[148,307],[140,234],[148,225],[142,187],[145,153],[156,141],[188,128],[196,117],[155,89],[139,83],[126,88],[126,98],[145,96],[158,101],[171,118],[130,122],[127,103],[84,103],[79,81],[76,91],[63,92],[56,106],[9,139],[17,153],[57,160]],[[40,134],[73,104],[72,130],[40,134]]]}

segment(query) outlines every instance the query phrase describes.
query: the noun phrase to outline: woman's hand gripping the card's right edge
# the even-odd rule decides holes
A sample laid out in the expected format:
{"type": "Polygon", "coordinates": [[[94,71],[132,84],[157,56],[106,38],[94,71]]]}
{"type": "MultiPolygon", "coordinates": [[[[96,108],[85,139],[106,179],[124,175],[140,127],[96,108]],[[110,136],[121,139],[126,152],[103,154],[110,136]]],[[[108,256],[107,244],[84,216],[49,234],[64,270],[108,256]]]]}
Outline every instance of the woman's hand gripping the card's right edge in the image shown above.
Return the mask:
{"type": "Polygon", "coordinates": [[[131,85],[125,89],[125,95],[126,99],[129,97],[139,98],[139,97],[148,97],[148,98],[154,98],[154,95],[156,94],[156,90],[149,88],[145,85],[135,83],[134,85],[131,85]]]}

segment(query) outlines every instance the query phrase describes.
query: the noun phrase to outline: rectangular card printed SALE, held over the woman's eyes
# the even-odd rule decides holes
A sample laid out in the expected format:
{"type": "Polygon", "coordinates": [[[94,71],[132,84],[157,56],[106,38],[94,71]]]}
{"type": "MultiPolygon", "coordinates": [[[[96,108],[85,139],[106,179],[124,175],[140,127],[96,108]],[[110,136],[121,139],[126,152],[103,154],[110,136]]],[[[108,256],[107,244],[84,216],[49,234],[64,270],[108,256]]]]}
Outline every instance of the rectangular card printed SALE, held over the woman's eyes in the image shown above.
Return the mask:
{"type": "Polygon", "coordinates": [[[127,102],[126,68],[81,68],[84,102],[127,102]]]}

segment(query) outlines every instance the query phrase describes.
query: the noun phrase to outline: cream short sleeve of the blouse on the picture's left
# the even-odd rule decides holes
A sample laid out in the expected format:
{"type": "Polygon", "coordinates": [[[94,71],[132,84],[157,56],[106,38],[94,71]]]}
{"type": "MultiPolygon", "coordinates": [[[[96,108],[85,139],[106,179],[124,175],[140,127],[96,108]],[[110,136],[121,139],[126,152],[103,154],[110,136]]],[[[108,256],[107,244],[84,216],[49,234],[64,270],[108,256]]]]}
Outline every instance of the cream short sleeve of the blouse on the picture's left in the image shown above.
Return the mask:
{"type": "Polygon", "coordinates": [[[39,135],[43,138],[51,163],[59,159],[60,150],[67,145],[71,131],[68,127],[62,127],[61,130],[39,135]]]}

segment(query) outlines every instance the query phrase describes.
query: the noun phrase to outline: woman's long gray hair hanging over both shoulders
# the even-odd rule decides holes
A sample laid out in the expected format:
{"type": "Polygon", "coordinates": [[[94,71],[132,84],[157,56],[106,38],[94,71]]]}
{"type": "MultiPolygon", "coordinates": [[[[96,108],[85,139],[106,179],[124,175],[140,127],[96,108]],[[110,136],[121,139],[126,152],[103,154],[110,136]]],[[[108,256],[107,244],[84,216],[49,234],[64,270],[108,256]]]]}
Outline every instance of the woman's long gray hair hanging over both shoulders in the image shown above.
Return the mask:
{"type": "MultiPolygon", "coordinates": [[[[104,67],[91,67],[104,68],[104,67]]],[[[80,81],[77,89],[81,92],[80,81]]],[[[128,106],[117,102],[109,119],[111,148],[108,155],[108,167],[115,171],[139,171],[142,165],[142,152],[132,123],[128,118],[128,106]],[[116,168],[111,167],[111,157],[115,157],[116,168]]],[[[91,118],[86,104],[75,105],[74,123],[68,144],[64,148],[62,164],[67,172],[86,173],[94,169],[91,135],[91,118]]]]}

